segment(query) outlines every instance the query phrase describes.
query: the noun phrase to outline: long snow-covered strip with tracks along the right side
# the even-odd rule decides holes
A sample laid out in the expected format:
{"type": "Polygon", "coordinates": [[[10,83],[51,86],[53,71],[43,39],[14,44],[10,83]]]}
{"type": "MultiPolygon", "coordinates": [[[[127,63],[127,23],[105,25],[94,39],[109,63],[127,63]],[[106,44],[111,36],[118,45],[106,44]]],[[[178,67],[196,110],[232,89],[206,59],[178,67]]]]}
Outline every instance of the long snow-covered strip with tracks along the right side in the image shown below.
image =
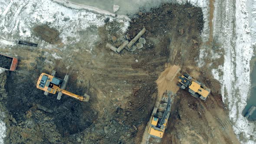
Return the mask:
{"type": "MultiPolygon", "coordinates": [[[[202,40],[206,42],[209,36],[209,0],[190,0],[190,3],[202,7],[205,20],[202,40]]],[[[256,0],[236,0],[236,3],[233,0],[215,0],[213,38],[225,51],[224,64],[213,69],[212,73],[222,84],[223,101],[230,109],[234,132],[238,138],[242,136],[242,143],[254,144],[255,125],[242,116],[242,111],[251,86],[249,62],[256,42],[256,0]],[[223,75],[219,75],[220,71],[223,75]]],[[[202,60],[207,56],[205,49],[200,53],[199,66],[204,64],[202,60]]]]}

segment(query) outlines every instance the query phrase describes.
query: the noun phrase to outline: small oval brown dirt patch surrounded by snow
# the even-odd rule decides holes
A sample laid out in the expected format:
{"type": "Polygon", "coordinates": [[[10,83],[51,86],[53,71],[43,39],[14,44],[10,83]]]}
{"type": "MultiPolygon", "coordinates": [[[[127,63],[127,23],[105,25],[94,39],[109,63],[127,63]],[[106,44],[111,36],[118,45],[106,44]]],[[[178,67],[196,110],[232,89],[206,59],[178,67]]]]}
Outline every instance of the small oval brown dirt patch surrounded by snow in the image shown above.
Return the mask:
{"type": "Polygon", "coordinates": [[[59,38],[59,32],[56,29],[50,28],[49,26],[36,26],[33,29],[41,39],[51,44],[58,44],[61,42],[59,38]]]}

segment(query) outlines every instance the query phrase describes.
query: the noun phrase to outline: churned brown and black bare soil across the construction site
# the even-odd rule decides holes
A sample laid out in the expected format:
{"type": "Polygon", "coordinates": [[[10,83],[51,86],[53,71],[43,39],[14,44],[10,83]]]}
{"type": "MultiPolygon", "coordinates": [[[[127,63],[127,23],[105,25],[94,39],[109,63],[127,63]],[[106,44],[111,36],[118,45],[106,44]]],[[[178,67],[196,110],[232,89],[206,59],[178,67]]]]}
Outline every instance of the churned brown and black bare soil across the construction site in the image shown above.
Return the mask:
{"type": "MultiPolygon", "coordinates": [[[[139,144],[157,98],[156,80],[166,63],[180,65],[182,72],[190,73],[212,91],[206,102],[178,91],[160,143],[239,143],[219,94],[220,84],[210,69],[197,67],[201,8],[189,3],[163,4],[132,16],[125,34],[132,39],[143,27],[147,29],[142,36],[146,44],[133,52],[124,49],[116,53],[105,48],[106,42],[112,43],[108,34],[118,37],[112,45],[122,43],[119,38],[125,34],[118,33],[116,27],[115,21],[99,27],[100,37],[90,52],[84,41],[62,50],[15,49],[20,54],[17,71],[0,74],[0,110],[6,113],[7,144],[139,144]],[[61,59],[46,56],[46,52],[57,53],[61,59]],[[65,95],[58,101],[56,95],[45,96],[36,89],[40,73],[50,74],[52,70],[62,79],[70,75],[66,89],[90,95],[89,102],[65,95]]],[[[62,47],[57,43],[56,30],[47,26],[34,30],[46,42],[62,47]]]]}

